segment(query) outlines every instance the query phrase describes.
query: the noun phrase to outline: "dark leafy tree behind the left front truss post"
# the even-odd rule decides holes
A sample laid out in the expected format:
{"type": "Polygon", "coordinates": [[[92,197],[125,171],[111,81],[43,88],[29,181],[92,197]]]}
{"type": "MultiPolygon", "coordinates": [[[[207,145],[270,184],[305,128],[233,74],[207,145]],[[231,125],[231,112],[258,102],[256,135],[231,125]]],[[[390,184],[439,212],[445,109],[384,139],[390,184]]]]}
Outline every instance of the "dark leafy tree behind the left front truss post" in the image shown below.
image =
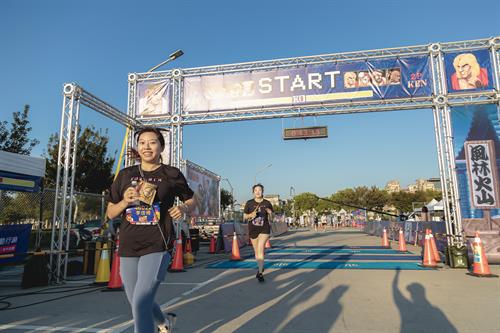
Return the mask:
{"type": "MultiPolygon", "coordinates": [[[[101,133],[93,126],[79,131],[77,153],[75,190],[87,193],[101,193],[108,189],[113,181],[113,164],[115,159],[108,156],[108,131],[101,133]]],[[[47,159],[45,184],[54,187],[57,174],[57,154],[59,137],[52,134],[47,144],[44,157],[47,159]]],[[[115,152],[116,154],[116,152],[115,152]]]]}

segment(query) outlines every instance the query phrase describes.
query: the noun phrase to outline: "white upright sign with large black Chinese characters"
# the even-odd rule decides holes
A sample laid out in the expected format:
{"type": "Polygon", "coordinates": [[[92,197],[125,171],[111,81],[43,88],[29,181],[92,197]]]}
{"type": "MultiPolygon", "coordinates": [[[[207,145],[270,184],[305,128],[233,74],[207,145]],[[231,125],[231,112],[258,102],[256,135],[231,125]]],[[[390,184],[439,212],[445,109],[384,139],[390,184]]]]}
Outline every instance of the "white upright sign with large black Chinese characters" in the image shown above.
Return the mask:
{"type": "Polygon", "coordinates": [[[479,209],[497,208],[498,183],[495,175],[497,167],[493,154],[493,141],[467,141],[465,154],[472,206],[479,209]]]}

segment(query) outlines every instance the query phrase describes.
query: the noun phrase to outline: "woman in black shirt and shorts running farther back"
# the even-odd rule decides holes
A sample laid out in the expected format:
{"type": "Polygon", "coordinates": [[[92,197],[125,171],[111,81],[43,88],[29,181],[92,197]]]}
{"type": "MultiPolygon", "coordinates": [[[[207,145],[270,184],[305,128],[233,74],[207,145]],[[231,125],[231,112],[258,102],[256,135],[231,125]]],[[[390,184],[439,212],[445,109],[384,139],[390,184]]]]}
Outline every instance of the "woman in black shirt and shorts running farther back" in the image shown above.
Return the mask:
{"type": "Polygon", "coordinates": [[[248,221],[248,234],[255,252],[255,260],[259,266],[255,277],[259,282],[264,282],[262,274],[264,272],[264,251],[271,233],[269,222],[272,221],[273,205],[264,199],[263,185],[254,185],[252,191],[254,198],[245,204],[243,218],[248,221]]]}

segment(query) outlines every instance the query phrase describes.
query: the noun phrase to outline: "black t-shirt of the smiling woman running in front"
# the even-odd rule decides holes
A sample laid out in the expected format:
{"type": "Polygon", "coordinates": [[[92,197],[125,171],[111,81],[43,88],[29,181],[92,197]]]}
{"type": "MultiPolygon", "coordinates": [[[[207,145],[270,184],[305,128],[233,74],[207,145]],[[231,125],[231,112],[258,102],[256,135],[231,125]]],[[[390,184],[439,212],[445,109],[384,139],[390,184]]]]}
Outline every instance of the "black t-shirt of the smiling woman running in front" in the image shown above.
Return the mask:
{"type": "MultiPolygon", "coordinates": [[[[122,213],[120,226],[120,247],[118,254],[122,257],[139,257],[153,252],[165,251],[165,241],[168,247],[175,239],[172,218],[168,209],[174,204],[175,197],[186,201],[193,197],[182,172],[168,165],[161,165],[154,171],[144,171],[145,181],[157,186],[152,206],[145,203],[134,207],[127,207],[122,213]]],[[[118,203],[123,199],[125,190],[132,186],[132,181],[142,180],[137,165],[120,171],[111,185],[107,199],[111,203],[118,203]]]]}

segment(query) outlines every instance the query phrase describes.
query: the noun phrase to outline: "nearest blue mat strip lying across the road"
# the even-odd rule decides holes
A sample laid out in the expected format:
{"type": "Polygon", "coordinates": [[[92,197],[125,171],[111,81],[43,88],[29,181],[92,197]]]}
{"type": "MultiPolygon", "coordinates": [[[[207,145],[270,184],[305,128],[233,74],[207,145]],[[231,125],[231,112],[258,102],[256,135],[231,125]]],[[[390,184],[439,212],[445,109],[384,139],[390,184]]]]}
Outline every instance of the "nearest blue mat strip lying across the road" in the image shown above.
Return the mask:
{"type": "MultiPolygon", "coordinates": [[[[267,261],[266,268],[282,269],[401,269],[401,270],[429,270],[420,267],[418,262],[338,262],[338,261],[267,261]]],[[[229,269],[229,268],[249,268],[257,269],[255,261],[221,261],[208,265],[207,268],[229,269]]]]}

